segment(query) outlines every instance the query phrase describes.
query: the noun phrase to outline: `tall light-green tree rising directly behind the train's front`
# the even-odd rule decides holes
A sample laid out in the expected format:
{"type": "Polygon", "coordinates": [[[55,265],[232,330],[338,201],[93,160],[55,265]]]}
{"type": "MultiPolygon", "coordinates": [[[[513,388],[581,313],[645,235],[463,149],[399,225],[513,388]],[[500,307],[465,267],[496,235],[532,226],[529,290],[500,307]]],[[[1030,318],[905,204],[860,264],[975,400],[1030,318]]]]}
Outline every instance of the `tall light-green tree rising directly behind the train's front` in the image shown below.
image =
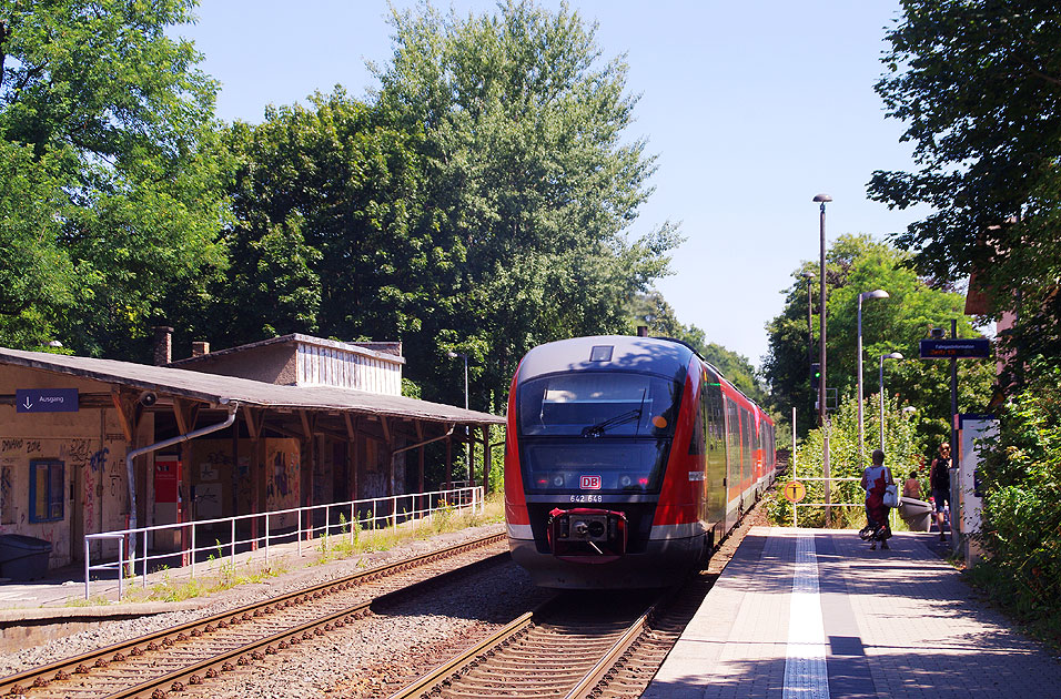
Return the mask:
{"type": "MultiPolygon", "coordinates": [[[[664,225],[630,241],[655,159],[625,140],[636,98],[622,58],[602,62],[595,27],[509,0],[458,18],[430,4],[392,17],[395,51],[376,104],[417,134],[437,294],[411,357],[417,376],[452,376],[465,352],[473,404],[498,408],[519,357],[542,342],[625,331],[626,302],[666,273],[664,225]]],[[[425,385],[425,396],[436,395],[425,385]]]]}

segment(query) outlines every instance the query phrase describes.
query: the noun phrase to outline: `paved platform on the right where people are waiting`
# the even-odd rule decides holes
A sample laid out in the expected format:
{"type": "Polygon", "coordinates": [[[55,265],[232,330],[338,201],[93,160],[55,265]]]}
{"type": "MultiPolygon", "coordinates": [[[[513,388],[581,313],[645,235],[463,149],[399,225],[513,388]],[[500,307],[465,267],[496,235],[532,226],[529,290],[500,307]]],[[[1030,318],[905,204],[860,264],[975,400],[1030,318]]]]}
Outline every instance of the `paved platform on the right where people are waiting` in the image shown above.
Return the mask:
{"type": "Polygon", "coordinates": [[[936,533],[755,527],[645,699],[1061,696],[1061,659],[1012,630],[936,533]]]}

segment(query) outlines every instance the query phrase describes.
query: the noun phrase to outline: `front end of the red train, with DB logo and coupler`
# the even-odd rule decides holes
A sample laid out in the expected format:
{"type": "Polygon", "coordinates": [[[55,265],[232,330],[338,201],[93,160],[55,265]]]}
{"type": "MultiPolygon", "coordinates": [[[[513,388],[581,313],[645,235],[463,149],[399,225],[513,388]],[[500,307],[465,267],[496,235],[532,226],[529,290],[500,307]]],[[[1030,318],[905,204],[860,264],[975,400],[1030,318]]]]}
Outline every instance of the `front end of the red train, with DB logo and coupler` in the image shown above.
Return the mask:
{"type": "Polygon", "coordinates": [[[661,587],[703,555],[695,523],[659,516],[671,445],[691,430],[690,417],[681,423],[693,357],[675,342],[625,336],[524,357],[508,404],[505,513],[513,559],[535,585],[661,587]]]}

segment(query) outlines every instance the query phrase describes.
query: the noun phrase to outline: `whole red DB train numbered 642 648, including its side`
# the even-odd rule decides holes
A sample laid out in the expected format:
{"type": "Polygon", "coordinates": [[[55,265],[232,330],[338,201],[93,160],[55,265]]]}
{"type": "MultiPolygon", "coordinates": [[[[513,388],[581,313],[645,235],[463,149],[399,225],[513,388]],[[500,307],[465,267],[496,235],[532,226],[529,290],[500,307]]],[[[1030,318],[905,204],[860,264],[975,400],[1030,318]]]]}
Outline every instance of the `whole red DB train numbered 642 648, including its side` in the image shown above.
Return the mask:
{"type": "Polygon", "coordinates": [[[684,343],[564,340],[513,378],[505,519],[535,585],[671,585],[774,475],[774,422],[684,343]]]}

